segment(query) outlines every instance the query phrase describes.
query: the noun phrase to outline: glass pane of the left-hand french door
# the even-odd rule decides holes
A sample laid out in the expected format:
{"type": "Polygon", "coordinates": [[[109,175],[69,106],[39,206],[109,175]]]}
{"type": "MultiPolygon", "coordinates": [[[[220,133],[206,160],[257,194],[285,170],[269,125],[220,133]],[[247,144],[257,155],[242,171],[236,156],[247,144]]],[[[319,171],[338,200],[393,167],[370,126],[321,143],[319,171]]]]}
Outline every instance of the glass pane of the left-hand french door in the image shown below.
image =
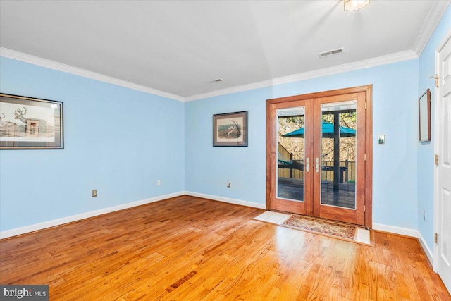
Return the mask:
{"type": "Polygon", "coordinates": [[[276,196],[304,202],[305,107],[277,110],[276,196]]]}

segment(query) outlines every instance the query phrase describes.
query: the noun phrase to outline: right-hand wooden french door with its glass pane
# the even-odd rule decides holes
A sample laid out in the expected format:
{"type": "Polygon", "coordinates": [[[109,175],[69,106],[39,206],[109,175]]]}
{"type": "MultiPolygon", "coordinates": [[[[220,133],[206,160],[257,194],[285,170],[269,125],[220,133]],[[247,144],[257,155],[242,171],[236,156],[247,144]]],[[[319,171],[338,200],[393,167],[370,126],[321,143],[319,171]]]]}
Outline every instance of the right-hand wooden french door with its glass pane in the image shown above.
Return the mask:
{"type": "Polygon", "coordinates": [[[365,94],[315,99],[314,216],[365,223],[365,94]]]}

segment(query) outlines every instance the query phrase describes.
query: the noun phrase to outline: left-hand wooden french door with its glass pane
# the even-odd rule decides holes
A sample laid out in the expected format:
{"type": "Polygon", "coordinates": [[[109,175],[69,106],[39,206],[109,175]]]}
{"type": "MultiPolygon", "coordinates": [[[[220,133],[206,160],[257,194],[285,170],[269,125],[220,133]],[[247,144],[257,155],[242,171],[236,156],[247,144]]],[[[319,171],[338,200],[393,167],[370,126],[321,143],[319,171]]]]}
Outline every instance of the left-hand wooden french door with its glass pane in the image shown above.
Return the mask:
{"type": "Polygon", "coordinates": [[[312,212],[309,158],[313,126],[309,115],[309,101],[271,104],[271,209],[295,214],[312,212]]]}

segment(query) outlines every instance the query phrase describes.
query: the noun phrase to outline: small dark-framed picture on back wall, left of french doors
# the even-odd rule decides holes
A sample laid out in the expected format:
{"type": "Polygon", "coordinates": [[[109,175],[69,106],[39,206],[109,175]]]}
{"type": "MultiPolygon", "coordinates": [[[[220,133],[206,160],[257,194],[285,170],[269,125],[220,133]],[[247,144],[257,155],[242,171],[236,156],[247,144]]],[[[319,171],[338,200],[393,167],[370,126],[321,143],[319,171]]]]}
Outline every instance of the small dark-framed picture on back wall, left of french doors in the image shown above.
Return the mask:
{"type": "Polygon", "coordinates": [[[214,147],[247,147],[247,111],[213,116],[214,147]]]}

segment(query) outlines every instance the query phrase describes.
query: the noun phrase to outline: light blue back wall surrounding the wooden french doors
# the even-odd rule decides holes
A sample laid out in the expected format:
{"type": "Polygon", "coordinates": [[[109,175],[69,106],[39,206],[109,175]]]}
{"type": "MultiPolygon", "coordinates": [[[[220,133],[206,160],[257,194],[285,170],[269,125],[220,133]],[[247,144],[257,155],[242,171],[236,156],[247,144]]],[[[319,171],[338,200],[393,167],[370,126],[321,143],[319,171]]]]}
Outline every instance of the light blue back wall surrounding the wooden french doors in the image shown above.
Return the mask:
{"type": "Polygon", "coordinates": [[[265,204],[266,99],[373,85],[373,223],[416,229],[418,60],[187,102],[185,189],[265,204]],[[213,147],[215,113],[249,111],[249,147],[213,147]],[[386,144],[376,145],[376,135],[386,144]],[[231,188],[226,183],[231,182],[231,188]]]}

